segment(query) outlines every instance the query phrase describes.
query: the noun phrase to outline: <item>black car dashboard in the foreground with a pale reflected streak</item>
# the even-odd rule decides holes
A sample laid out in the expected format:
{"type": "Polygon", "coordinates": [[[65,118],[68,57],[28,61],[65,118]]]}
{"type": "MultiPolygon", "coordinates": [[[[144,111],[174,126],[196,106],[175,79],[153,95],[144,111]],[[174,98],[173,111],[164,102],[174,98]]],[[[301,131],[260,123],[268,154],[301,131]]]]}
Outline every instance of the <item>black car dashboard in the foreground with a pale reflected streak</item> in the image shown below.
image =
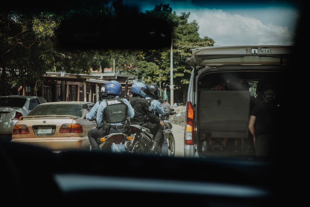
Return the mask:
{"type": "Polygon", "coordinates": [[[144,206],[165,200],[171,205],[263,206],[276,198],[270,181],[278,168],[271,160],[53,153],[12,142],[1,142],[0,148],[2,198],[24,204],[43,199],[144,206]]]}

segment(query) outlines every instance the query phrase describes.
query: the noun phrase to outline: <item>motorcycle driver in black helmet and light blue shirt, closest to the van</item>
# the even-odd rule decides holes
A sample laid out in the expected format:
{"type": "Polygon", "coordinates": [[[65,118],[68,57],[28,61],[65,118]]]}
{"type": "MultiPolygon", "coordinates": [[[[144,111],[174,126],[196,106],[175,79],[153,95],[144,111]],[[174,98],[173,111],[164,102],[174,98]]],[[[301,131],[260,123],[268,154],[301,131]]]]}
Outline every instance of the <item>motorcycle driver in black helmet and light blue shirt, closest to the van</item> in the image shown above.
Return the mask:
{"type": "MultiPolygon", "coordinates": [[[[162,104],[159,101],[160,96],[158,95],[159,93],[159,87],[155,84],[155,83],[149,83],[146,85],[146,97],[145,99],[148,100],[148,102],[151,104],[153,110],[154,110],[154,114],[159,118],[159,114],[161,114],[162,116],[164,116],[166,113],[164,111],[164,109],[162,108],[162,104]]],[[[167,112],[169,113],[169,112],[167,112]]],[[[158,134],[162,133],[162,137],[164,137],[162,139],[162,150],[161,150],[161,155],[162,156],[166,156],[168,155],[168,142],[167,139],[164,135],[164,128],[163,127],[159,127],[158,134]]],[[[157,135],[159,136],[159,135],[157,135]]]]}

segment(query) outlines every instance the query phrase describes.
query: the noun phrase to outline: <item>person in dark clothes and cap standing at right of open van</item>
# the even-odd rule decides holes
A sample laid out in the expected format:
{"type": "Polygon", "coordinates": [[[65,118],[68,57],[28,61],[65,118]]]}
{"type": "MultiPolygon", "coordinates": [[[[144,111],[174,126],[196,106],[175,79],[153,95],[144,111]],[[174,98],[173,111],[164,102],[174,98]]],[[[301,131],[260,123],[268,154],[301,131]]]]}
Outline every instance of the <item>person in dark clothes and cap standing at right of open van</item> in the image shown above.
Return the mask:
{"type": "Polygon", "coordinates": [[[279,106],[274,90],[263,92],[263,98],[251,111],[249,131],[253,136],[256,157],[274,158],[279,134],[279,106]]]}

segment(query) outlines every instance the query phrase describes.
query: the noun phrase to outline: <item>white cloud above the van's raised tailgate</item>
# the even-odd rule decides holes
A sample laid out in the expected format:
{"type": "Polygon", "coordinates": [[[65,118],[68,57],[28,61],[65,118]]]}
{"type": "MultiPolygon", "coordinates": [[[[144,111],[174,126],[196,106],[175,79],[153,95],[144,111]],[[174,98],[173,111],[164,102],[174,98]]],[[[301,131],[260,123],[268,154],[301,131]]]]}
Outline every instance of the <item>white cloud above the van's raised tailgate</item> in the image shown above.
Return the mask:
{"type": "MultiPolygon", "coordinates": [[[[293,31],[287,26],[264,25],[261,20],[218,9],[188,10],[189,22],[196,20],[199,36],[208,36],[215,45],[289,44],[293,31]]],[[[187,13],[188,13],[187,12],[187,13]]],[[[176,10],[178,14],[178,11],[176,10]]],[[[180,14],[180,13],[179,13],[180,14]]],[[[179,15],[178,14],[178,15],[179,15]]]]}

